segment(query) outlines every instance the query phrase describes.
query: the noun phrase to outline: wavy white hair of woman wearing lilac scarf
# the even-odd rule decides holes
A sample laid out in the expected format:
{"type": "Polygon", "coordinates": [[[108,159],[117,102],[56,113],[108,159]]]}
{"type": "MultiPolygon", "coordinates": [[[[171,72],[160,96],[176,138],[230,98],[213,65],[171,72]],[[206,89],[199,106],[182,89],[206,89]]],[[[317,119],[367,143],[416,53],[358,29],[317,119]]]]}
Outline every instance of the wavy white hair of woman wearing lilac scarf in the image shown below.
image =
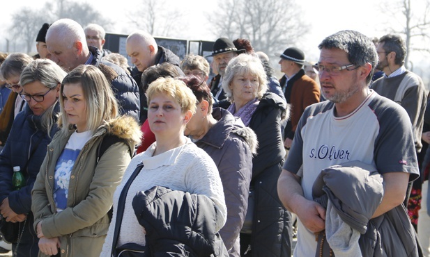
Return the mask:
{"type": "Polygon", "coordinates": [[[234,76],[240,74],[253,74],[259,79],[259,88],[256,98],[261,99],[267,91],[267,76],[264,71],[261,60],[256,53],[241,53],[229,61],[225,69],[224,77],[222,78],[222,88],[226,94],[226,98],[233,103],[233,92],[229,85],[233,81],[234,76]]]}

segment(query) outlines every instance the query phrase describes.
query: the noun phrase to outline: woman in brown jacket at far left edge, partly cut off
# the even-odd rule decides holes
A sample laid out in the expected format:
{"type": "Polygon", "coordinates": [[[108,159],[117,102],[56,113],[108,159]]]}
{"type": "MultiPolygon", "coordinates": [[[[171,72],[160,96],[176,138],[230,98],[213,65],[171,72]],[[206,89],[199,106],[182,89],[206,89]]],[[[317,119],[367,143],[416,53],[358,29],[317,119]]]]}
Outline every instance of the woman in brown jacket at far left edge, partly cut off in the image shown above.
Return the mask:
{"type": "Polygon", "coordinates": [[[10,92],[3,111],[0,114],[0,147],[4,147],[13,119],[24,108],[24,101],[18,97],[22,87],[20,86],[20,74],[24,67],[31,63],[33,58],[25,53],[11,53],[0,66],[0,79],[6,81],[6,88],[10,92]]]}

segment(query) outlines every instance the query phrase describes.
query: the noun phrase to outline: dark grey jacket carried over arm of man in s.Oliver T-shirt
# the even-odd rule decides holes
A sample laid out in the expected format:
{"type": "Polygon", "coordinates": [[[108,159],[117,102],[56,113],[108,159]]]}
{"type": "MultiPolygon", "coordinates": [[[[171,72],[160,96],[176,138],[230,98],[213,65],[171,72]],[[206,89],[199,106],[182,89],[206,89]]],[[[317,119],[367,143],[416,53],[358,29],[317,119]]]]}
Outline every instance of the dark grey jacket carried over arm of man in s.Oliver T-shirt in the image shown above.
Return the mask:
{"type": "Polygon", "coordinates": [[[354,161],[323,169],[312,194],[323,206],[331,201],[342,221],[362,234],[362,256],[418,256],[415,230],[403,204],[371,219],[383,198],[383,179],[374,167],[354,161]]]}

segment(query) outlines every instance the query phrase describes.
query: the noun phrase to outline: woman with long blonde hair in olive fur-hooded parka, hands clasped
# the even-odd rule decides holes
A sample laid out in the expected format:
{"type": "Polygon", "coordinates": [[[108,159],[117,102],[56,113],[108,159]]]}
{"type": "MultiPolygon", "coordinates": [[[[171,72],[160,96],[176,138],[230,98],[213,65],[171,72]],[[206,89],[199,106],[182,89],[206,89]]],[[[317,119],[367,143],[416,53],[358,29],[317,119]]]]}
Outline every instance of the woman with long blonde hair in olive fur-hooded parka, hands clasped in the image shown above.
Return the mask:
{"type": "Polygon", "coordinates": [[[31,192],[39,256],[98,256],[114,191],[140,139],[139,124],[118,116],[110,83],[92,65],[73,69],[59,96],[60,131],[31,192]]]}

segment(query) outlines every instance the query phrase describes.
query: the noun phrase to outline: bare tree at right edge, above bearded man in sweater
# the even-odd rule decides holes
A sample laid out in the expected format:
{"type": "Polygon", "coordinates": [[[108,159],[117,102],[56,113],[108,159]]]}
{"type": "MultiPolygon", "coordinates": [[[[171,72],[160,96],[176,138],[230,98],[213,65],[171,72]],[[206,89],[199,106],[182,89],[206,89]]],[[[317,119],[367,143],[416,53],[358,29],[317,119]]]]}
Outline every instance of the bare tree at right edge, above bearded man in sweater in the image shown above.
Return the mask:
{"type": "MultiPolygon", "coordinates": [[[[413,3],[417,2],[399,0],[394,8],[381,8],[390,20],[389,24],[385,24],[388,30],[405,36],[407,68],[410,65],[410,52],[430,53],[430,0],[422,2],[424,6],[421,7],[413,6],[413,3]]],[[[390,6],[392,6],[391,1],[390,6]]]]}

